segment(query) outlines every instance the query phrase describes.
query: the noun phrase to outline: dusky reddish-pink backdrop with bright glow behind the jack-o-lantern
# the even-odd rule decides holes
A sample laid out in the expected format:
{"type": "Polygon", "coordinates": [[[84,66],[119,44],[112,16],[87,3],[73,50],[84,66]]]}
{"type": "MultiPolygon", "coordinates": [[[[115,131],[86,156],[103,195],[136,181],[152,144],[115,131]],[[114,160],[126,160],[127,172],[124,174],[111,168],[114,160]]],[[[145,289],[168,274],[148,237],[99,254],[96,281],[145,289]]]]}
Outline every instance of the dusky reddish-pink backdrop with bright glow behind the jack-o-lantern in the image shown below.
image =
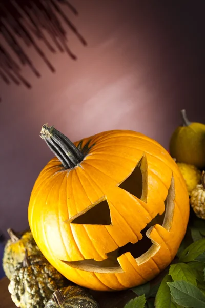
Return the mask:
{"type": "MultiPolygon", "coordinates": [[[[25,229],[30,192],[52,157],[39,138],[44,123],[72,140],[110,129],[140,131],[168,148],[181,123],[205,122],[204,1],[73,0],[68,12],[88,41],[68,35],[78,56],[47,56],[52,74],[32,49],[42,72],[24,74],[33,88],[1,83],[0,229],[25,229]]],[[[40,43],[40,46],[43,45],[40,43]]]]}

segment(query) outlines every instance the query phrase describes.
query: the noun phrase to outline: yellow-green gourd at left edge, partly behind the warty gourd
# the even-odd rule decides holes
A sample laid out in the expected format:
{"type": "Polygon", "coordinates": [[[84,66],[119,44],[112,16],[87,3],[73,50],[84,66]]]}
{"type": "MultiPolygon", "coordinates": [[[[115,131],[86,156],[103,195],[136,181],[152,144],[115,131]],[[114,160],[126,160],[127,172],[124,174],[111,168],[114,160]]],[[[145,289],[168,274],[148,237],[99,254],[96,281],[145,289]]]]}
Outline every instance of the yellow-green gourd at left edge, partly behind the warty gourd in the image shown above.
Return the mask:
{"type": "Polygon", "coordinates": [[[27,249],[28,255],[42,256],[42,253],[36,245],[30,231],[15,233],[11,228],[9,228],[7,232],[10,239],[7,241],[4,248],[3,269],[5,275],[10,280],[16,265],[24,260],[25,248],[27,249]]]}

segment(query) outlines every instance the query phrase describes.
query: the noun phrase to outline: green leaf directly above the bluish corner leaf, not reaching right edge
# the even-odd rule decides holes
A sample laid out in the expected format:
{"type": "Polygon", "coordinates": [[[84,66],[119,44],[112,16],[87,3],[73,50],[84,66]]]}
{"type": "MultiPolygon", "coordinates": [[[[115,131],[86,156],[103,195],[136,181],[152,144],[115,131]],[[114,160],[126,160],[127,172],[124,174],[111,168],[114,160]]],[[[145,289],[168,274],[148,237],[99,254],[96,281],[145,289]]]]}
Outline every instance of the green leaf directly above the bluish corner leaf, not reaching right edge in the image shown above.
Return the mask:
{"type": "Polygon", "coordinates": [[[192,269],[185,263],[172,264],[169,274],[174,281],[185,280],[197,286],[196,277],[192,269]]]}

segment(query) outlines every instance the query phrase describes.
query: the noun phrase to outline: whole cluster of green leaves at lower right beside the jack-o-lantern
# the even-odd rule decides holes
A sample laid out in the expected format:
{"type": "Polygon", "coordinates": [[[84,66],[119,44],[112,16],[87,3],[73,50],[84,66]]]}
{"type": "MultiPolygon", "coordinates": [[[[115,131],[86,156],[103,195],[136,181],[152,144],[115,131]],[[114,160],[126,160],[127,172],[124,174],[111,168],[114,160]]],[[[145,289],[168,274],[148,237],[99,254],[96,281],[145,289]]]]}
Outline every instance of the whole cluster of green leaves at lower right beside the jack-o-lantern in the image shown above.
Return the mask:
{"type": "Polygon", "coordinates": [[[191,215],[171,265],[155,279],[131,290],[137,297],[124,308],[204,308],[205,221],[191,215]]]}

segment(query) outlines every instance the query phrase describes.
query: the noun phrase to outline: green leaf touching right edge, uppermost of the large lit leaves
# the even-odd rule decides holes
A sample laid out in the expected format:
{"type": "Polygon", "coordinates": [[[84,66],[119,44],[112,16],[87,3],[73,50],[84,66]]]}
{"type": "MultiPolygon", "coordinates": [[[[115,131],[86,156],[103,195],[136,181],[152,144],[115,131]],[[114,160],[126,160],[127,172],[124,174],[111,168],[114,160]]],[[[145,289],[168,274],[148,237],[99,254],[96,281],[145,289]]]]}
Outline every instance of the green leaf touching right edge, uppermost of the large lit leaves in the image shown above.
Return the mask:
{"type": "Polygon", "coordinates": [[[179,262],[190,262],[195,260],[205,251],[205,239],[201,239],[189,245],[181,254],[179,262]]]}

